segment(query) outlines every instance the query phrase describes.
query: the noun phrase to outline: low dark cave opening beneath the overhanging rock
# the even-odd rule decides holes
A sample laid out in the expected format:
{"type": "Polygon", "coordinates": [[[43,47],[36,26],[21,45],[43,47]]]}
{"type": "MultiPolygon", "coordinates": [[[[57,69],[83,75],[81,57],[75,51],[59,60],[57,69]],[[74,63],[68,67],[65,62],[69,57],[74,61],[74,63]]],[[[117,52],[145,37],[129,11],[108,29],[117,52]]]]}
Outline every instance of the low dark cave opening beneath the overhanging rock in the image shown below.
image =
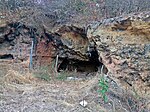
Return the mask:
{"type": "Polygon", "coordinates": [[[106,74],[108,72],[105,65],[100,62],[98,51],[96,49],[90,51],[88,57],[88,61],[61,58],[59,59],[60,63],[58,63],[57,71],[77,71],[92,73],[97,72],[99,69],[101,69],[102,66],[104,66],[104,73],[106,74]]]}

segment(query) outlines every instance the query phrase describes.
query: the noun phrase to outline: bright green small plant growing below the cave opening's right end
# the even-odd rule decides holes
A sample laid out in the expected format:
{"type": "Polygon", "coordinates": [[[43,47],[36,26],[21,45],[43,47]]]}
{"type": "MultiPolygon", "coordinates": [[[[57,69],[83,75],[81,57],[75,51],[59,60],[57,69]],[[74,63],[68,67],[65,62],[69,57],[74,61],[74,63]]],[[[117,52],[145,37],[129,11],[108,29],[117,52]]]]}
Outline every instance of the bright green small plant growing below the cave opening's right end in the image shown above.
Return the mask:
{"type": "Polygon", "coordinates": [[[105,80],[104,76],[100,77],[98,86],[101,88],[100,90],[98,90],[98,93],[101,94],[104,102],[106,103],[108,101],[106,93],[109,87],[108,87],[108,82],[105,80]]]}

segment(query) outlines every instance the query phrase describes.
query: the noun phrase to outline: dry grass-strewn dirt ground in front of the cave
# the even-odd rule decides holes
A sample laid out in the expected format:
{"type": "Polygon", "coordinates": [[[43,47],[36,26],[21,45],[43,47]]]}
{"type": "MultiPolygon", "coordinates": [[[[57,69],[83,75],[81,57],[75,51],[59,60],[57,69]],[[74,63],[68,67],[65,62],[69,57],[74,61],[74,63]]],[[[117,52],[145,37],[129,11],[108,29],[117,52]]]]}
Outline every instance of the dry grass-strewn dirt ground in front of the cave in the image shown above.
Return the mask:
{"type": "Polygon", "coordinates": [[[0,78],[0,112],[149,112],[148,100],[129,94],[109,76],[105,103],[97,92],[99,76],[43,81],[8,70],[0,78]]]}

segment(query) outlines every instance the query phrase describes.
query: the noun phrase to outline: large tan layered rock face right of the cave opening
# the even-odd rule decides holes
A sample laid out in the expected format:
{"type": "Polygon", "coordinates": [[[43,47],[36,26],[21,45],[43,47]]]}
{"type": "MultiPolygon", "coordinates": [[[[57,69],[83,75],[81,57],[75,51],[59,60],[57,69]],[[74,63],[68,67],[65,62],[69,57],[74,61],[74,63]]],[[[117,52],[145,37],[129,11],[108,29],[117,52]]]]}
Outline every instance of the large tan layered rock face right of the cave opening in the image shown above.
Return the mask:
{"type": "Polygon", "coordinates": [[[88,38],[114,79],[139,94],[150,94],[150,12],[91,25],[88,38]]]}

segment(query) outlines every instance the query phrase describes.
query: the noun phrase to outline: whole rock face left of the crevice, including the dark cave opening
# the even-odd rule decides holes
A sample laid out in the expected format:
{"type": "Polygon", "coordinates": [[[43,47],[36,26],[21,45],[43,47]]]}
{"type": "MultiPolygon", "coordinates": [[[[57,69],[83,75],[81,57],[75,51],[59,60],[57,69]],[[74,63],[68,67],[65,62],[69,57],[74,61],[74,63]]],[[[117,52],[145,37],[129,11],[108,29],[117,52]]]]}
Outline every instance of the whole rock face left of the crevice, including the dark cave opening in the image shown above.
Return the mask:
{"type": "Polygon", "coordinates": [[[43,31],[38,32],[37,28],[14,22],[1,25],[0,30],[0,60],[11,59],[29,68],[33,42],[34,68],[51,66],[56,57],[58,71],[95,72],[102,65],[95,45],[89,43],[85,29],[64,25],[52,33],[43,26],[43,31]]]}

